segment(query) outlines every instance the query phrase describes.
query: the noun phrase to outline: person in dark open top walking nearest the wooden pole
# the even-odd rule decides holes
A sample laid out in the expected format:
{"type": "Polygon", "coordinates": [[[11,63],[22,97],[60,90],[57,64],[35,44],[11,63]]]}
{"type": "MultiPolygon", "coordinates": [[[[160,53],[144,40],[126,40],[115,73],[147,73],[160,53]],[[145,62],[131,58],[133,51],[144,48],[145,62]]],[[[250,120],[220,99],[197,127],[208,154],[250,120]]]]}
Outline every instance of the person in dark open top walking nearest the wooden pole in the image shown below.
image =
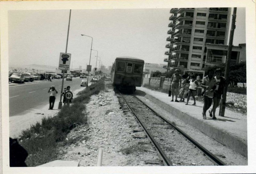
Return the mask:
{"type": "Polygon", "coordinates": [[[215,116],[215,111],[216,111],[216,108],[220,105],[221,95],[224,93],[224,87],[226,84],[226,80],[224,77],[221,76],[221,73],[222,71],[220,68],[217,68],[215,70],[216,76],[214,78],[216,80],[216,83],[214,85],[214,91],[213,91],[213,107],[211,110],[209,110],[210,117],[212,117],[213,120],[217,119],[215,116]]]}

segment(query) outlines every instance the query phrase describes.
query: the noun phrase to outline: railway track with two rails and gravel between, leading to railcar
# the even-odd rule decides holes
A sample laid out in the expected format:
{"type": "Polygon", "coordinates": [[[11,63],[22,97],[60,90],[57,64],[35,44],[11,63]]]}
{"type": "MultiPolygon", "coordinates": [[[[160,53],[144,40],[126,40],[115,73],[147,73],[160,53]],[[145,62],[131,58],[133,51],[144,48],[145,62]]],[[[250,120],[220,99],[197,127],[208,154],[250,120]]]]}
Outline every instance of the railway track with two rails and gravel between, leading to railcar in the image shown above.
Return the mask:
{"type": "Polygon", "coordinates": [[[136,96],[115,92],[124,114],[132,112],[164,165],[227,165],[136,96]]]}

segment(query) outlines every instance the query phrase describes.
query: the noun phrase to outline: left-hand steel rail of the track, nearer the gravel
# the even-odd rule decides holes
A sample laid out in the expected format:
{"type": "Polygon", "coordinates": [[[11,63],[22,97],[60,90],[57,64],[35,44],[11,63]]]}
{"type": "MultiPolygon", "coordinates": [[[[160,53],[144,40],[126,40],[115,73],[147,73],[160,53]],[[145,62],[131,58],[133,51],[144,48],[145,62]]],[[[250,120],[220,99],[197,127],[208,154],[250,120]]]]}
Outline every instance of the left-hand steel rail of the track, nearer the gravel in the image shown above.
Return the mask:
{"type": "MultiPolygon", "coordinates": [[[[119,94],[121,95],[121,97],[124,99],[123,95],[119,92],[119,94]]],[[[140,125],[142,126],[142,128],[145,130],[146,134],[148,135],[148,137],[150,138],[150,140],[153,142],[153,144],[155,145],[156,149],[158,150],[158,152],[161,154],[164,163],[167,166],[172,166],[172,162],[169,160],[169,158],[166,156],[166,154],[164,153],[164,151],[162,150],[162,148],[160,147],[160,145],[156,142],[156,140],[153,138],[153,136],[149,133],[148,129],[144,126],[144,124],[140,121],[139,117],[135,114],[135,112],[133,111],[133,109],[130,107],[130,105],[128,104],[128,102],[124,99],[124,102],[126,103],[126,105],[130,108],[130,110],[132,111],[132,114],[135,116],[135,118],[138,120],[138,122],[140,123],[140,125]]]]}

